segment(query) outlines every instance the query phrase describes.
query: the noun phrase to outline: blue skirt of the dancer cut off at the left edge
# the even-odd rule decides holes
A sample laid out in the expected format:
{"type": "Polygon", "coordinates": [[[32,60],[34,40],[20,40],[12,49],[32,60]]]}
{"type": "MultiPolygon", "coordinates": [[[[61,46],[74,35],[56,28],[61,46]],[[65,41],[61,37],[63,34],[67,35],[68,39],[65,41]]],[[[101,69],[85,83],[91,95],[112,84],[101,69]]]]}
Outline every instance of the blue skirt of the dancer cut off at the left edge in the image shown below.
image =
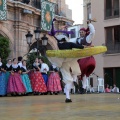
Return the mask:
{"type": "Polygon", "coordinates": [[[0,95],[6,95],[7,94],[7,80],[5,73],[0,73],[0,95]]]}

